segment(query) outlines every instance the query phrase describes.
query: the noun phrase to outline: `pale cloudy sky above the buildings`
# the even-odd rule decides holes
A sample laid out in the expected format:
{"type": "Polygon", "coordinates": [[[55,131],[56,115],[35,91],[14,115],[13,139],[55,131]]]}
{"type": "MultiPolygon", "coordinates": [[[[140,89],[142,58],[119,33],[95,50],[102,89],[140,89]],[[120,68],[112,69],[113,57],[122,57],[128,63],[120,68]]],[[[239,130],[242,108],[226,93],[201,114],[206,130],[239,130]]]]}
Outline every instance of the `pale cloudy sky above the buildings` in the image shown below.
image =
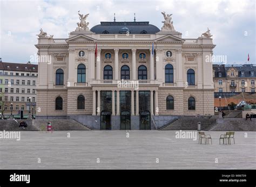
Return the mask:
{"type": "Polygon", "coordinates": [[[0,57],[3,62],[28,62],[37,49],[40,28],[54,38],[68,38],[77,27],[78,10],[87,17],[89,28],[100,21],[150,21],[161,28],[161,11],[172,13],[173,26],[183,38],[198,38],[210,28],[215,55],[227,62],[255,63],[255,0],[191,1],[3,1],[1,2],[0,57]]]}

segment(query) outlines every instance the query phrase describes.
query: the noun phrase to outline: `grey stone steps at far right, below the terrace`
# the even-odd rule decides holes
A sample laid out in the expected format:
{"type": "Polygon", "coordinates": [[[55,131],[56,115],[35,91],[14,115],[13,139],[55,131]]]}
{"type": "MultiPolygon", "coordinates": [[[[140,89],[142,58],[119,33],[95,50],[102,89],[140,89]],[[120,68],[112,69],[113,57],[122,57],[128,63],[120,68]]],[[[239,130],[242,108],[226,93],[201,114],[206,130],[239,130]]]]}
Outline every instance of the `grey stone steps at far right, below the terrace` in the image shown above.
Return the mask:
{"type": "Polygon", "coordinates": [[[256,119],[239,118],[217,119],[217,125],[211,131],[256,131],[256,119]]]}

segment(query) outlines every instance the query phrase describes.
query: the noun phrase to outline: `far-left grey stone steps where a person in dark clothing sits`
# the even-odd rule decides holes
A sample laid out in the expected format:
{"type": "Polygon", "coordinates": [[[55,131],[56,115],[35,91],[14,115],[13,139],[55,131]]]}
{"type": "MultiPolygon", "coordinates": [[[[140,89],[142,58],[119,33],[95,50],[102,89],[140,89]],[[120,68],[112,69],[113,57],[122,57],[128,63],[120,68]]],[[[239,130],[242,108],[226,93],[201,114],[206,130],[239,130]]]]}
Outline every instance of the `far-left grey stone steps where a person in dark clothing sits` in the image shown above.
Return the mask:
{"type": "Polygon", "coordinates": [[[6,120],[0,120],[0,131],[39,131],[39,129],[32,125],[31,120],[25,120],[28,127],[25,129],[19,128],[19,123],[21,123],[23,120],[17,120],[17,122],[14,119],[6,119],[6,120]]]}

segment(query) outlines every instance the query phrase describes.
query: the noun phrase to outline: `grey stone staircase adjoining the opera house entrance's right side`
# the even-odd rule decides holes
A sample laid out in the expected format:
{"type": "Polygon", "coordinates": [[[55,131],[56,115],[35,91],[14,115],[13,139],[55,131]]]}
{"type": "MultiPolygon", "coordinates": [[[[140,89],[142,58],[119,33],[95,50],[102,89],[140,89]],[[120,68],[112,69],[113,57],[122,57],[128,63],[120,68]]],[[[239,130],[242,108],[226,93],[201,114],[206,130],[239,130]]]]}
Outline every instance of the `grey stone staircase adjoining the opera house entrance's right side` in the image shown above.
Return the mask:
{"type": "Polygon", "coordinates": [[[159,128],[163,131],[173,131],[173,130],[197,130],[197,124],[200,121],[201,130],[209,131],[214,126],[216,126],[216,118],[207,118],[207,117],[180,117],[174,119],[171,123],[159,128]]]}

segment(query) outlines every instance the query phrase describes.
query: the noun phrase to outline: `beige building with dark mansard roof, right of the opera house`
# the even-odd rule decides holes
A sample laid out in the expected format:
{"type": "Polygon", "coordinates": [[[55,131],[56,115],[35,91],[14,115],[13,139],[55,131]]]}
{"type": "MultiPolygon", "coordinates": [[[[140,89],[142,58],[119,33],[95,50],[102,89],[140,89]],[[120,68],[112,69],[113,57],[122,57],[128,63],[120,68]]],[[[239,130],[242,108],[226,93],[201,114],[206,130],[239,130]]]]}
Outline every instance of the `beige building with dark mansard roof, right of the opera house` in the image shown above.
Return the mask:
{"type": "Polygon", "coordinates": [[[213,64],[215,92],[255,92],[255,64],[213,64]]]}

